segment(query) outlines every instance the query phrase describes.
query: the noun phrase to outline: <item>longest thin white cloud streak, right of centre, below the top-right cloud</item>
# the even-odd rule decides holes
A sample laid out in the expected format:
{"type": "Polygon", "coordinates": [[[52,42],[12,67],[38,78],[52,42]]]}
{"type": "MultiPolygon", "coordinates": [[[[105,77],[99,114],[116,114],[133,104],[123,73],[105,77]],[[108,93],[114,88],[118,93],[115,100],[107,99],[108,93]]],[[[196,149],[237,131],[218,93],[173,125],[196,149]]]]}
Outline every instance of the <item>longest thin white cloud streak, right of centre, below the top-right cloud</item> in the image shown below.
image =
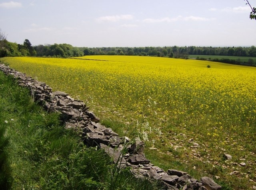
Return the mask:
{"type": "Polygon", "coordinates": [[[197,16],[188,16],[188,17],[177,16],[176,18],[169,18],[169,17],[160,18],[160,19],[147,18],[147,19],[144,19],[143,22],[147,22],[147,23],[176,22],[178,20],[184,20],[184,21],[209,21],[209,20],[214,20],[214,18],[204,18],[204,17],[197,17],[197,16]]]}

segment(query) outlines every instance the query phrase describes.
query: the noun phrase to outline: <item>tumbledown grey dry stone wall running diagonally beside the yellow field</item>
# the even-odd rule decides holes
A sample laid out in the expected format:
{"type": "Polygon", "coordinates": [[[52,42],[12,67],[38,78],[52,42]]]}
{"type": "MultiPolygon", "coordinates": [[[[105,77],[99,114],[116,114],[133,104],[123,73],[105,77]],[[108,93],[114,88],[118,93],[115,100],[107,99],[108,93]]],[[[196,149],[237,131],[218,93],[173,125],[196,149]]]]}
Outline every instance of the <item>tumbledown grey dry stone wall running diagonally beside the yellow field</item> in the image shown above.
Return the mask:
{"type": "Polygon", "coordinates": [[[4,64],[0,64],[0,69],[5,74],[14,76],[20,86],[29,88],[34,100],[45,110],[59,112],[65,128],[78,131],[84,144],[104,149],[118,167],[129,166],[131,172],[137,177],[159,180],[164,189],[168,190],[221,189],[221,186],[211,178],[203,177],[201,180],[197,180],[187,172],[174,169],[169,169],[166,172],[158,166],[154,166],[144,156],[144,143],[140,139],[131,140],[128,137],[119,137],[111,128],[101,125],[100,118],[90,112],[84,102],[75,100],[65,92],[52,92],[52,88],[44,82],[37,81],[4,64]],[[124,147],[127,150],[125,153],[124,147]]]}

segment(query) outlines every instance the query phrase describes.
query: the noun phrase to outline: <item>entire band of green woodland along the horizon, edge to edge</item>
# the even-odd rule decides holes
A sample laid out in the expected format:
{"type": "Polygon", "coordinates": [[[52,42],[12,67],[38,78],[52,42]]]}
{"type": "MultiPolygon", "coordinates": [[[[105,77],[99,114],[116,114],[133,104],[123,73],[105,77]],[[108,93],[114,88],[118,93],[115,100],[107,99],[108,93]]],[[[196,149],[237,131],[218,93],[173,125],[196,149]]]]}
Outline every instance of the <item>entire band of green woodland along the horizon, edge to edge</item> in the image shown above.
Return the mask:
{"type": "MultiPolygon", "coordinates": [[[[23,44],[0,39],[0,57],[36,56],[36,57],[80,57],[84,55],[138,55],[187,59],[189,55],[223,55],[238,57],[256,57],[256,47],[73,47],[70,44],[47,44],[33,46],[28,39],[23,44]]],[[[215,60],[224,63],[239,64],[230,60],[215,60]]],[[[252,61],[249,65],[255,65],[252,61]]]]}

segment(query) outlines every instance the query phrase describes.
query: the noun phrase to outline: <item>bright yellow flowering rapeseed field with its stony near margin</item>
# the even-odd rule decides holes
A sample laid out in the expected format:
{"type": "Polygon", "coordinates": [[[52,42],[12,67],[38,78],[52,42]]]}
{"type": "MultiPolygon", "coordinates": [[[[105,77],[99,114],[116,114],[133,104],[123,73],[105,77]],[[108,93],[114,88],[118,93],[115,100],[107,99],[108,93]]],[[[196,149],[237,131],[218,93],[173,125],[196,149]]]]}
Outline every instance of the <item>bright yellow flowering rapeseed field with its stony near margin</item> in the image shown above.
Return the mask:
{"type": "Polygon", "coordinates": [[[221,176],[226,187],[255,185],[254,67],[139,56],[2,61],[83,100],[101,119],[123,123],[122,131],[143,139],[160,166],[221,176]]]}

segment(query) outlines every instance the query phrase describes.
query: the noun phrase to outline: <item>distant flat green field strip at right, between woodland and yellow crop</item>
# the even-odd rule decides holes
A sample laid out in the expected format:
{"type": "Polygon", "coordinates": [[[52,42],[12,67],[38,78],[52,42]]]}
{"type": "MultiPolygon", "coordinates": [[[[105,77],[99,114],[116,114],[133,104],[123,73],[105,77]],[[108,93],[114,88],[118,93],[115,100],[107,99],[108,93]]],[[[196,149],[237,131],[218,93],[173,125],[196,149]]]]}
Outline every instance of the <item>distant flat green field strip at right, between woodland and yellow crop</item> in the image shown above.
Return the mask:
{"type": "Polygon", "coordinates": [[[236,61],[241,61],[241,63],[248,62],[248,59],[252,59],[254,63],[256,63],[256,57],[239,57],[239,56],[226,56],[226,55],[189,55],[189,59],[196,59],[197,57],[199,58],[204,58],[204,59],[233,59],[236,61]]]}

